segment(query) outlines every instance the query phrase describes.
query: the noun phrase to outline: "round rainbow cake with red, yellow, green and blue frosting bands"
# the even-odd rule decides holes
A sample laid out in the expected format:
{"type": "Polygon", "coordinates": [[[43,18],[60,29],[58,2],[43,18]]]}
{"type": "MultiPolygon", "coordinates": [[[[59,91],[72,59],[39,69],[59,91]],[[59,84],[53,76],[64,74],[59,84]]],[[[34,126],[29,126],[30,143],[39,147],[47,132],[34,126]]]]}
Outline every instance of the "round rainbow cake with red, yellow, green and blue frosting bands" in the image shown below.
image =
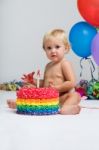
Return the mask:
{"type": "Polygon", "coordinates": [[[21,88],[17,91],[16,105],[18,114],[57,114],[59,93],[53,88],[21,88]]]}

